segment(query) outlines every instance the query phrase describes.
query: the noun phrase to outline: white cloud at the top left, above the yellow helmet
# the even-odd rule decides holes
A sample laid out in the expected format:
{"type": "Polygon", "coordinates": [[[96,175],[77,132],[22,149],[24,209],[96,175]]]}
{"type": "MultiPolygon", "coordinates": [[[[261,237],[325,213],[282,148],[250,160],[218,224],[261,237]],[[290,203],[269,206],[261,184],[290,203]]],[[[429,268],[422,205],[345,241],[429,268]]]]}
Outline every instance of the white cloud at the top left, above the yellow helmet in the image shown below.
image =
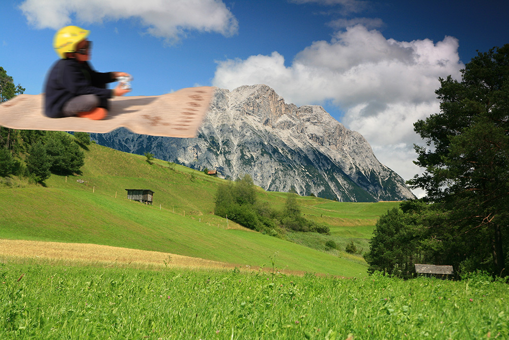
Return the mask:
{"type": "Polygon", "coordinates": [[[20,9],[37,28],[59,29],[78,22],[134,18],[147,32],[175,41],[186,31],[236,34],[237,19],[220,0],[25,0],[20,9]]]}

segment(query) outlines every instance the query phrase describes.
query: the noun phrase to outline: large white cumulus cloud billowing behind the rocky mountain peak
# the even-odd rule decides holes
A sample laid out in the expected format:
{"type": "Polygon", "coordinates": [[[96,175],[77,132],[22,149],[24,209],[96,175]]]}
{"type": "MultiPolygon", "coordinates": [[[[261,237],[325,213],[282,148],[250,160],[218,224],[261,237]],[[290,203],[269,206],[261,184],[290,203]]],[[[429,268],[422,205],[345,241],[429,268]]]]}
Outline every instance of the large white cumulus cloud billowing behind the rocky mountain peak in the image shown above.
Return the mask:
{"type": "Polygon", "coordinates": [[[458,40],[410,42],[386,39],[356,25],[330,41],[316,41],[290,66],[269,56],[218,62],[213,84],[228,89],[267,84],[297,105],[332,102],[348,128],[360,132],[385,165],[409,179],[418,172],[413,123],[438,112],[439,77],[460,79],[458,40]]]}

